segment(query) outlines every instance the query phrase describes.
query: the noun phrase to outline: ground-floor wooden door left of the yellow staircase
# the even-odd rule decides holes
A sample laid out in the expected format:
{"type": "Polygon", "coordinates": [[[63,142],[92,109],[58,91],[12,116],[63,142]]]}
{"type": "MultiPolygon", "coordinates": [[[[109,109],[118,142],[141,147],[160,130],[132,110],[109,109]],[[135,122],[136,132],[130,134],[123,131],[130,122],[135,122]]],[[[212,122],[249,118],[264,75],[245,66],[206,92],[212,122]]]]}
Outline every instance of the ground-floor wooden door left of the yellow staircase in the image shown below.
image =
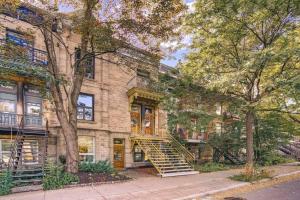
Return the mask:
{"type": "Polygon", "coordinates": [[[124,139],[114,139],[114,168],[123,169],[125,162],[124,139]]]}

